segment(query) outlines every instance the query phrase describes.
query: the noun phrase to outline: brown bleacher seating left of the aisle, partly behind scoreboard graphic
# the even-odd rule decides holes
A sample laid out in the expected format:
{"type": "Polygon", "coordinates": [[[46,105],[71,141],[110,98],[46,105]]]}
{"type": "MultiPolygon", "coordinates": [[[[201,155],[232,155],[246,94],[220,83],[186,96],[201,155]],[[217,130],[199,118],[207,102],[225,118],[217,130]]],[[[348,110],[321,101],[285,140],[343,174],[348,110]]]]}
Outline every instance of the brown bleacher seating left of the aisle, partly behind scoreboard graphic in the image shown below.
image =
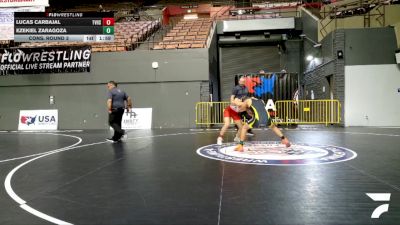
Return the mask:
{"type": "Polygon", "coordinates": [[[135,49],[160,27],[159,21],[115,23],[114,42],[30,42],[21,47],[81,46],[91,45],[92,52],[114,52],[135,49]]]}

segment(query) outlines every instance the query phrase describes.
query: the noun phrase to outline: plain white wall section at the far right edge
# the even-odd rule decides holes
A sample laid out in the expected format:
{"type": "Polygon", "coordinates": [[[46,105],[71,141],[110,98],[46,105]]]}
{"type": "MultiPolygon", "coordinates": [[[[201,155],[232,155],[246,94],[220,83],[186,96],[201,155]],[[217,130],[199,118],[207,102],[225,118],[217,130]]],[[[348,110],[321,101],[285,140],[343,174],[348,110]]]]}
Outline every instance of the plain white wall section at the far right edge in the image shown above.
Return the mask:
{"type": "Polygon", "coordinates": [[[345,66],[345,126],[400,126],[400,65],[345,66]]]}

